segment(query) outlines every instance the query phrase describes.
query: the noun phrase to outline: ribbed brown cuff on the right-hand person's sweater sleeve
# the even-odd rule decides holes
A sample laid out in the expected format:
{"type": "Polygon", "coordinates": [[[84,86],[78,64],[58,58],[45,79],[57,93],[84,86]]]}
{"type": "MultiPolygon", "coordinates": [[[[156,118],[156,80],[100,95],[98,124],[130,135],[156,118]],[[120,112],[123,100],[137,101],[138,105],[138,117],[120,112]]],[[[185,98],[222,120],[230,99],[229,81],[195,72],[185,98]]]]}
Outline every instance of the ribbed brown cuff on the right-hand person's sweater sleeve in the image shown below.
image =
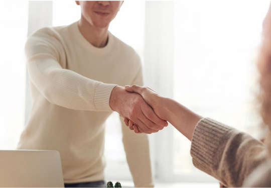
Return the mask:
{"type": "Polygon", "coordinates": [[[224,141],[229,138],[231,130],[233,128],[209,118],[198,122],[190,150],[195,167],[208,174],[212,174],[212,169],[220,161],[217,159],[220,156],[220,151],[218,150],[223,150],[225,147],[224,141]]]}

